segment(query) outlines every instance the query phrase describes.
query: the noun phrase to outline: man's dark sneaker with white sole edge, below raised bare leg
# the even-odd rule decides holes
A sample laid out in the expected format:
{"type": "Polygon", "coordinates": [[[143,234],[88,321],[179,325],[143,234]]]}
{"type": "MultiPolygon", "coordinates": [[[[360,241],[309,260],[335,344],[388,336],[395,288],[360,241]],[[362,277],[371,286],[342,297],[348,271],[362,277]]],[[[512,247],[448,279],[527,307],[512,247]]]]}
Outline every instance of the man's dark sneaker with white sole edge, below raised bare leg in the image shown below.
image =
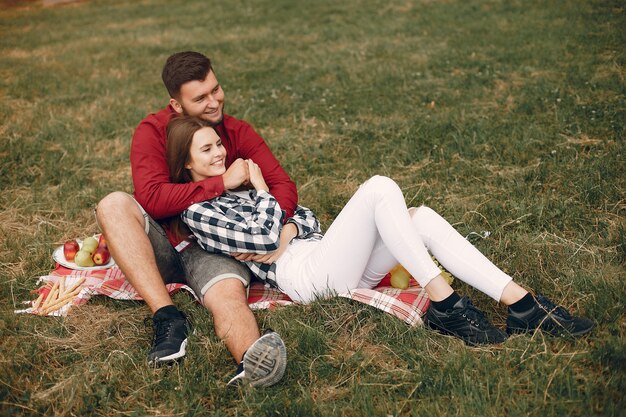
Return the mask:
{"type": "Polygon", "coordinates": [[[154,328],[148,363],[167,363],[185,356],[187,335],[191,331],[191,324],[184,313],[180,314],[181,318],[148,317],[144,320],[146,325],[152,322],[154,328]]]}

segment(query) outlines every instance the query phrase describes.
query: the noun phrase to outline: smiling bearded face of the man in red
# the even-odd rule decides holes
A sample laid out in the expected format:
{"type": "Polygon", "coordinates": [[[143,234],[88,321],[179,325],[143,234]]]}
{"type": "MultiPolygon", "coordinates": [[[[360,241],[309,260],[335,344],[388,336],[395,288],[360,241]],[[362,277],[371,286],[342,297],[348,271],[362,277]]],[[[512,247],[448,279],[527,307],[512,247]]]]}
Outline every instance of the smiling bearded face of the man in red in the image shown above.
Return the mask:
{"type": "Polygon", "coordinates": [[[204,81],[183,84],[179,99],[170,99],[170,104],[178,113],[198,116],[211,124],[217,124],[224,117],[224,90],[213,71],[209,71],[204,81]]]}

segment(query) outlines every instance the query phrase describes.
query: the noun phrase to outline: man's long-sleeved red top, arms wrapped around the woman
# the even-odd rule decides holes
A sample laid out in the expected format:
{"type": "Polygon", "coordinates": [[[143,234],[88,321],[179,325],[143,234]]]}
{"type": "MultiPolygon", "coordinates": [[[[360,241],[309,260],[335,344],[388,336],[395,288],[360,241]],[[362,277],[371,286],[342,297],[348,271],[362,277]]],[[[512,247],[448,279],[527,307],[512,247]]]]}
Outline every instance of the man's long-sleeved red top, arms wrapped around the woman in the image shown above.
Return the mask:
{"type": "MultiPolygon", "coordinates": [[[[164,225],[170,242],[176,246],[181,240],[170,233],[167,220],[193,203],[221,195],[224,181],[219,176],[187,184],[170,182],[166,129],[174,114],[174,109],[168,106],[139,123],[130,148],[130,166],[135,199],[153,219],[164,225]]],[[[280,166],[263,138],[248,123],[226,114],[222,123],[214,128],[226,148],[226,167],[237,158],[252,159],[261,168],[270,193],[286,212],[285,219],[291,217],[298,203],[296,184],[280,166]]]]}

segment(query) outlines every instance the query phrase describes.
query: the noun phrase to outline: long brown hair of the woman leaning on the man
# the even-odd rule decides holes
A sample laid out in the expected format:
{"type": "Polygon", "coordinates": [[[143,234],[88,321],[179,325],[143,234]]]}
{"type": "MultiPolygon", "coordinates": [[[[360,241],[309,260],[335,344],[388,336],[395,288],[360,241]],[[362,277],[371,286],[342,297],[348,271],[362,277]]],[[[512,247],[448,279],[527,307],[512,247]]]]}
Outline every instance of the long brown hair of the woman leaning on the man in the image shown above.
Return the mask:
{"type": "MultiPolygon", "coordinates": [[[[191,143],[193,135],[200,129],[211,125],[198,117],[177,116],[167,125],[167,167],[170,171],[170,181],[176,184],[192,182],[189,170],[185,168],[191,161],[191,143]]],[[[180,216],[174,216],[169,222],[170,230],[180,239],[188,237],[191,232],[181,221],[180,216]]]]}

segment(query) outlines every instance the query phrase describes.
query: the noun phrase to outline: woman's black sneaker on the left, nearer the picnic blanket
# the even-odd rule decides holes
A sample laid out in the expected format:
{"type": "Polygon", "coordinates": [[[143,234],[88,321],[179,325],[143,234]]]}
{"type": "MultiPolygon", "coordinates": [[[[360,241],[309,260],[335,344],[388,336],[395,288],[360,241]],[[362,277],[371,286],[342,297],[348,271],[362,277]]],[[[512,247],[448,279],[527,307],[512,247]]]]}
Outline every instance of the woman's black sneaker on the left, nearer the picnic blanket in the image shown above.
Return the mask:
{"type": "Polygon", "coordinates": [[[502,343],[507,337],[502,330],[493,327],[467,297],[461,298],[447,311],[438,311],[431,305],[426,312],[426,323],[438,332],[456,336],[471,346],[502,343]]]}

